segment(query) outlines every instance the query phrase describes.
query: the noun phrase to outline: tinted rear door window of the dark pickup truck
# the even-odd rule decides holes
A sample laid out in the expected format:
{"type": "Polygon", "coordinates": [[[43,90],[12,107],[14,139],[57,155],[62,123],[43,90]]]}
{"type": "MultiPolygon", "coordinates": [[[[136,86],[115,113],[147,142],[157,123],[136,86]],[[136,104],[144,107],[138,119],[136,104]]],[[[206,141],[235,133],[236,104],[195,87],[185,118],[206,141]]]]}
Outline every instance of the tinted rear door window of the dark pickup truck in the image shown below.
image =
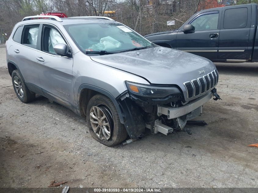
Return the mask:
{"type": "Polygon", "coordinates": [[[246,7],[227,9],[224,14],[224,29],[246,27],[247,16],[248,9],[246,7]]]}

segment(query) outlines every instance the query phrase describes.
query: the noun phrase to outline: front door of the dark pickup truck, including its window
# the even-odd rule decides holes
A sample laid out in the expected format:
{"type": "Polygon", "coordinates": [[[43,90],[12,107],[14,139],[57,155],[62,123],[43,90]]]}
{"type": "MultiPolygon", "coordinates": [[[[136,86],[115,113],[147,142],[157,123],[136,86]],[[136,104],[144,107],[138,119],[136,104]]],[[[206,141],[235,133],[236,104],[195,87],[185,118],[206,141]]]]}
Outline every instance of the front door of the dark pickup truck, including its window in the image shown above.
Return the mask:
{"type": "Polygon", "coordinates": [[[184,33],[182,27],[176,37],[176,49],[200,55],[210,60],[218,59],[219,16],[219,11],[205,12],[186,23],[192,24],[195,30],[184,33]]]}

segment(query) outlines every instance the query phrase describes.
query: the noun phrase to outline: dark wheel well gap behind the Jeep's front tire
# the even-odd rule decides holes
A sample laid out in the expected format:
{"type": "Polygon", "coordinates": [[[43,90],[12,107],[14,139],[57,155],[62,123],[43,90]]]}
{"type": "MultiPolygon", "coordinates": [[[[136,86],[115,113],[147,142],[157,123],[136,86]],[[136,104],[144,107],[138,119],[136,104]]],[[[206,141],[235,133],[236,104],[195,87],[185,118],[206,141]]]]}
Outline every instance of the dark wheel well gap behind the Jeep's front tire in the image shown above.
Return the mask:
{"type": "Polygon", "coordinates": [[[79,98],[79,107],[80,114],[82,116],[86,116],[87,105],[89,103],[89,99],[91,99],[94,95],[101,94],[100,92],[94,91],[89,88],[84,88],[80,93],[79,98]]]}

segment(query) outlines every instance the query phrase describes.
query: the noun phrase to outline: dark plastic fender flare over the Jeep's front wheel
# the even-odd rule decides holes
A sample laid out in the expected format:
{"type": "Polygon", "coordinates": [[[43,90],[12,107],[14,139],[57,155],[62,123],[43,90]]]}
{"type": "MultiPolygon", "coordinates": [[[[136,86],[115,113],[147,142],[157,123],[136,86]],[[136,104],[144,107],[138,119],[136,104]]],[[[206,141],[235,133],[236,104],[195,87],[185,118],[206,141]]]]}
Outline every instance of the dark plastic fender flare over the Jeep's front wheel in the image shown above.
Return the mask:
{"type": "Polygon", "coordinates": [[[79,101],[80,101],[80,94],[81,94],[82,90],[85,89],[85,88],[88,88],[88,89],[97,91],[97,92],[99,92],[99,93],[101,93],[101,94],[107,96],[108,98],[110,98],[111,101],[112,101],[112,102],[114,103],[114,105],[115,105],[115,108],[116,108],[116,110],[117,110],[117,113],[118,113],[120,122],[121,122],[122,124],[124,124],[123,113],[122,113],[122,111],[121,111],[121,108],[120,108],[120,106],[119,106],[117,100],[114,98],[114,96],[111,95],[110,92],[108,92],[108,91],[106,91],[106,90],[104,90],[104,89],[102,89],[102,88],[93,86],[93,85],[91,85],[91,84],[82,84],[82,85],[79,87],[79,89],[78,89],[78,95],[77,95],[77,112],[78,112],[78,113],[80,112],[80,104],[79,104],[79,101]]]}

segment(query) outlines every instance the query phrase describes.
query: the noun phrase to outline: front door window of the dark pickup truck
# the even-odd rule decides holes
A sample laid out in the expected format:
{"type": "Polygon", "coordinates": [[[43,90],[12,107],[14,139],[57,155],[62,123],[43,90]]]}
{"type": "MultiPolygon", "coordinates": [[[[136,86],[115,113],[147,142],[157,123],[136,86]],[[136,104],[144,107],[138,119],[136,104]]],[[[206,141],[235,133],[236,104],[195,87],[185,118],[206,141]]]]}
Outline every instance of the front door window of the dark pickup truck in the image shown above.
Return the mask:
{"type": "Polygon", "coordinates": [[[192,24],[195,28],[195,31],[199,30],[216,30],[218,29],[219,22],[219,13],[207,13],[206,15],[202,15],[197,17],[192,24]]]}

